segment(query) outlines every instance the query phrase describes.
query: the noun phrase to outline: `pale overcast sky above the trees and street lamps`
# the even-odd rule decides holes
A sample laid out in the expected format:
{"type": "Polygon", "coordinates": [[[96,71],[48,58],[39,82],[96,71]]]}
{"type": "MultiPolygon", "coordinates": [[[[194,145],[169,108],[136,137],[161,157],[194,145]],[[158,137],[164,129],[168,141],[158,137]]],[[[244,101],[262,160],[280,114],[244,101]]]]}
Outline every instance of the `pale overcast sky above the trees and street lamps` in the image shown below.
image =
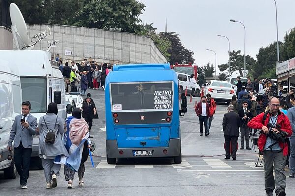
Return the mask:
{"type": "MultiPolygon", "coordinates": [[[[215,66],[228,62],[230,51],[241,50],[244,54],[244,28],[246,28],[246,55],[256,59],[259,48],[277,40],[274,0],[137,0],[146,5],[140,15],[144,23],[153,23],[157,32],[176,32],[184,47],[194,51],[195,64],[215,66]]],[[[295,0],[276,0],[279,41],[295,27],[295,0]]],[[[217,73],[219,73],[217,67],[217,73]]]]}

